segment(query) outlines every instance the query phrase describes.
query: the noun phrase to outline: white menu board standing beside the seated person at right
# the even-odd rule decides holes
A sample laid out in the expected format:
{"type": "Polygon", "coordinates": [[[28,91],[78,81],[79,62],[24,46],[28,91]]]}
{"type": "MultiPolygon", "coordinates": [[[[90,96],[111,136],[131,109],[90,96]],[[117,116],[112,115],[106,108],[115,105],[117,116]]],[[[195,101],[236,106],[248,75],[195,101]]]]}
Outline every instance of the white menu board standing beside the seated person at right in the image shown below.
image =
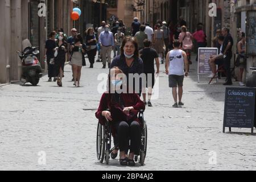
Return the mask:
{"type": "Polygon", "coordinates": [[[198,49],[198,74],[205,75],[212,73],[209,65],[210,56],[218,55],[218,48],[198,49]]]}

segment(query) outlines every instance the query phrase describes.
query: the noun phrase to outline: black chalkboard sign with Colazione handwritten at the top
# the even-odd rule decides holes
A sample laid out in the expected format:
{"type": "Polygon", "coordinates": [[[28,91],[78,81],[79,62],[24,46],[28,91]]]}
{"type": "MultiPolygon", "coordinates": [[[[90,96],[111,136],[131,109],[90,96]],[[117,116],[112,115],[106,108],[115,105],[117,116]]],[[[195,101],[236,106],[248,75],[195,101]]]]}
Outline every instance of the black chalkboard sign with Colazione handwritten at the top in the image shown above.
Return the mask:
{"type": "Polygon", "coordinates": [[[256,88],[226,88],[224,125],[229,127],[250,128],[255,126],[255,93],[256,88]]]}

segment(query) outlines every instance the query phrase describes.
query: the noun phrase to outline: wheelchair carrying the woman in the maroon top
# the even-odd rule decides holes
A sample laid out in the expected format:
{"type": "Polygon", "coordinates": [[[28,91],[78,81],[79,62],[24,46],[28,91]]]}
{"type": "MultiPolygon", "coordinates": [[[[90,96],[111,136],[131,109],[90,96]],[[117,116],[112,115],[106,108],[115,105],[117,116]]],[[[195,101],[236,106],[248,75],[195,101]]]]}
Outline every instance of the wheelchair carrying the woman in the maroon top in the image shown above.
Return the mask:
{"type": "MultiPolygon", "coordinates": [[[[143,123],[142,126],[142,138],[141,138],[141,150],[139,152],[139,156],[135,155],[135,162],[144,166],[144,161],[146,158],[147,152],[147,123],[144,121],[144,110],[139,111],[139,120],[143,123]]],[[[97,159],[100,163],[103,163],[104,160],[106,164],[109,164],[110,154],[115,148],[118,146],[112,147],[112,129],[110,122],[106,122],[105,125],[101,125],[98,123],[97,127],[97,159]]]]}

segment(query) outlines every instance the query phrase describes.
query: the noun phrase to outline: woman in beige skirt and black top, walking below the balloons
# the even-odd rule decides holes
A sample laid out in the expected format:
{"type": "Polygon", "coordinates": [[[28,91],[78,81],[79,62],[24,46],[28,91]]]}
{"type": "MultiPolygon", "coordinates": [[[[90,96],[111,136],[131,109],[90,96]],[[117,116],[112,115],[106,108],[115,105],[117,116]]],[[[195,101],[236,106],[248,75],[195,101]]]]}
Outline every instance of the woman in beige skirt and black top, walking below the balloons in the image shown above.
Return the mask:
{"type": "Polygon", "coordinates": [[[74,86],[80,87],[81,69],[85,66],[84,53],[86,51],[86,46],[83,43],[81,34],[77,34],[75,42],[71,46],[71,60],[69,64],[72,65],[73,76],[74,76],[74,86]]]}

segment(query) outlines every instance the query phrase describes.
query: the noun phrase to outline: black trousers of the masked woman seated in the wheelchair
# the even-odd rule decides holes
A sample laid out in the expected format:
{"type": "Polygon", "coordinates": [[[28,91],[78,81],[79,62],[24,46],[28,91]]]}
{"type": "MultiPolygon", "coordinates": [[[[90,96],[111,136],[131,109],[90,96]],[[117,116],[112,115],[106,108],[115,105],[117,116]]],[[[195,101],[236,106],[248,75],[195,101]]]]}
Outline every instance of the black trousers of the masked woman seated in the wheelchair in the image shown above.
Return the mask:
{"type": "Polygon", "coordinates": [[[125,151],[128,154],[130,149],[131,153],[139,155],[141,148],[141,125],[137,121],[131,123],[122,121],[115,123],[117,130],[117,138],[114,138],[115,146],[119,147],[120,151],[125,151]]]}

